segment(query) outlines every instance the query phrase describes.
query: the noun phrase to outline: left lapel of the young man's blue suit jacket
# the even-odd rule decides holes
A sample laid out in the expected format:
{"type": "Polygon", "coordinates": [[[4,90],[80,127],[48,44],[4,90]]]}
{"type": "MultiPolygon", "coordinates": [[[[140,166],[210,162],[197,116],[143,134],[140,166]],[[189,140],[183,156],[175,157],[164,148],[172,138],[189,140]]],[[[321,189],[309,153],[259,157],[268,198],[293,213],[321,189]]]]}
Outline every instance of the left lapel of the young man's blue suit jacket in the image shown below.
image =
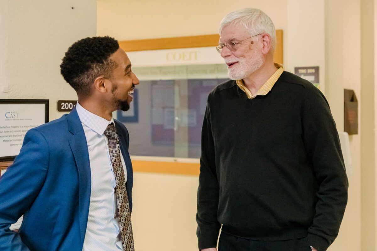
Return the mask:
{"type": "Polygon", "coordinates": [[[68,141],[70,148],[72,149],[72,154],[75,158],[80,183],[78,212],[80,221],[81,243],[83,244],[88,222],[91,189],[89,152],[84,129],[81,125],[81,121],[78,117],[76,108],[74,108],[72,112],[67,115],[67,123],[69,132],[71,133],[69,135],[68,141]]]}

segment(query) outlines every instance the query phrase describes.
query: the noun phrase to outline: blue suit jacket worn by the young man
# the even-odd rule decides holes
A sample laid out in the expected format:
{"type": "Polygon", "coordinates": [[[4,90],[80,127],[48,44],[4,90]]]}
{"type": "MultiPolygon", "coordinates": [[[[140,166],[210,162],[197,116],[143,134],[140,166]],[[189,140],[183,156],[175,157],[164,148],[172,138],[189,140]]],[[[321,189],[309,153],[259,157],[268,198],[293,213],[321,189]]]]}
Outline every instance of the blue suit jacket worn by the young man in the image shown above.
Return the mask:
{"type": "MultiPolygon", "coordinates": [[[[114,121],[126,162],[132,210],[129,134],[123,124],[114,121]]],[[[76,109],[29,130],[20,154],[0,178],[0,250],[81,251],[90,188],[89,153],[76,109]],[[10,231],[9,226],[21,215],[19,232],[10,231]]]]}

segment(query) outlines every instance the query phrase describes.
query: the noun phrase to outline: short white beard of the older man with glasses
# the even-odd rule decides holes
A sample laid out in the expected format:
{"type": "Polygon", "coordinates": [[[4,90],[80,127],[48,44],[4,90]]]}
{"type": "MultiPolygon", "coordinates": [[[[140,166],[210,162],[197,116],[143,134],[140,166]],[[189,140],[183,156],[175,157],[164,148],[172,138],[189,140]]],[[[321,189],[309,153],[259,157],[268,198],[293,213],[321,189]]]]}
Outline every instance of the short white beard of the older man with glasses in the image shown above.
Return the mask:
{"type": "Polygon", "coordinates": [[[228,76],[230,79],[239,80],[244,79],[254,73],[254,71],[261,68],[264,64],[264,57],[261,54],[256,55],[253,58],[236,58],[234,59],[226,59],[225,62],[234,62],[238,61],[236,65],[231,68],[228,68],[228,76]]]}

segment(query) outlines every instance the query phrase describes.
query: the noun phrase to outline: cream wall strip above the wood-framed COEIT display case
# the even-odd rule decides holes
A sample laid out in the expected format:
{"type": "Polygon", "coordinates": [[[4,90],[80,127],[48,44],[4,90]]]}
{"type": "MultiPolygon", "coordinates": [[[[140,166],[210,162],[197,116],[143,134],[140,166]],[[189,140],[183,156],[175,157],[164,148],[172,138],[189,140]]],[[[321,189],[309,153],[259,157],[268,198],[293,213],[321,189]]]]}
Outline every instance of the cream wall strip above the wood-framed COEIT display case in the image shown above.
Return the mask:
{"type": "Polygon", "coordinates": [[[120,41],[217,34],[226,14],[246,7],[262,9],[276,29],[287,30],[287,0],[97,0],[97,7],[97,35],[120,41]]]}

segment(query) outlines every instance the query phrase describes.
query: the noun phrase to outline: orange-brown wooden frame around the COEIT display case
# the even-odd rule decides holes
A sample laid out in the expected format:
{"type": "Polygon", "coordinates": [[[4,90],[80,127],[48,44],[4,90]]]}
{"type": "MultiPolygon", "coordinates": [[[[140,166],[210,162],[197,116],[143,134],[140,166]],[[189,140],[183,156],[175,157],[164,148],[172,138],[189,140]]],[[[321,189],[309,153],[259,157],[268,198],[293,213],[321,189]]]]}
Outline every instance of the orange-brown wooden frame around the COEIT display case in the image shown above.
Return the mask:
{"type": "MultiPolygon", "coordinates": [[[[182,49],[194,47],[215,47],[219,44],[219,35],[201,35],[190,37],[156,38],[145,40],[119,41],[119,46],[126,52],[143,50],[182,49]]],[[[283,30],[276,30],[276,49],[274,62],[283,64],[283,30]]],[[[171,157],[132,157],[133,170],[136,172],[170,173],[199,175],[199,161],[171,157]]]]}

